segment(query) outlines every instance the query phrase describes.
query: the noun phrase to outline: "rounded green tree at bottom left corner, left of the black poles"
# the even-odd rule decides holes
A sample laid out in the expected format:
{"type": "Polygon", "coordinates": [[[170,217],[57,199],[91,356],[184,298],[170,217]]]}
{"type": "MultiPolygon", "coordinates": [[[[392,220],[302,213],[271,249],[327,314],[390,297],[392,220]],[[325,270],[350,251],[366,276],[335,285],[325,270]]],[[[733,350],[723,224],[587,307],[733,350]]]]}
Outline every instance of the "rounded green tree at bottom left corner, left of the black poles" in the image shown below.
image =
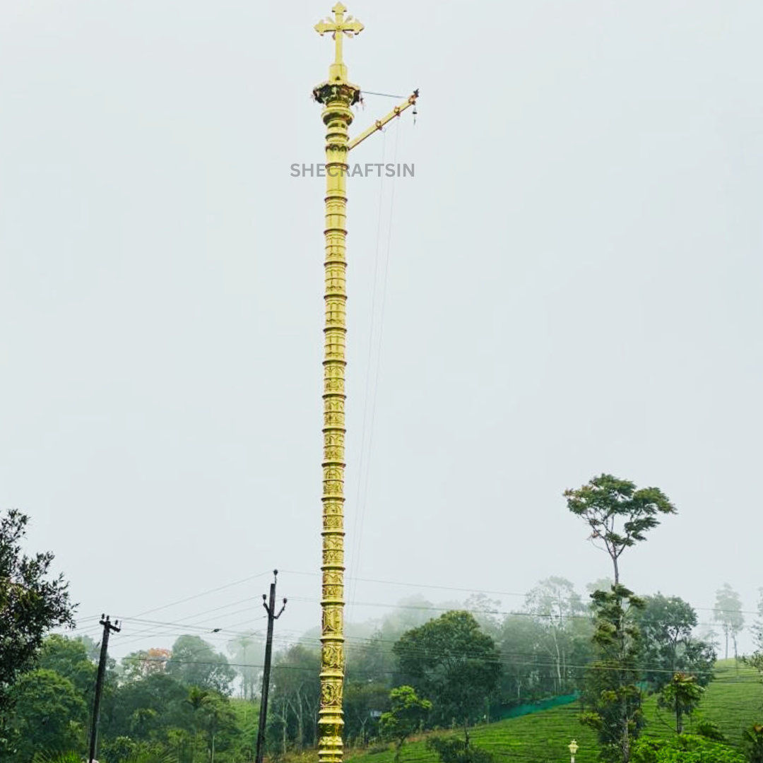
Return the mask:
{"type": "Polygon", "coordinates": [[[36,752],[82,749],[87,709],[69,679],[52,670],[30,671],[18,679],[11,694],[11,760],[27,763],[36,752]]]}

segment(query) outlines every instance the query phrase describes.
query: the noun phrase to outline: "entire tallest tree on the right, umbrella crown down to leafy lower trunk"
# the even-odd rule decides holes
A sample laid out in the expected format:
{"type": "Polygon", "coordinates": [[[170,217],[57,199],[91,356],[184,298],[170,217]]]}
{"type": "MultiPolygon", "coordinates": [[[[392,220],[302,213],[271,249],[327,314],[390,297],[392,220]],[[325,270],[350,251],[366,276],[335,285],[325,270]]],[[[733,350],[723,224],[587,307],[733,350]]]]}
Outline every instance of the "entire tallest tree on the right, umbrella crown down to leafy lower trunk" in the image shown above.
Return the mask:
{"type": "Polygon", "coordinates": [[[636,619],[644,602],[620,583],[620,557],[646,539],[660,515],[676,509],[659,488],[636,488],[612,475],[594,477],[564,495],[568,509],[591,528],[594,545],[607,552],[614,573],[610,591],[591,594],[597,660],[586,681],[591,710],[581,721],[597,730],[602,760],[629,763],[633,739],[643,726],[638,686],[642,638],[636,619]]]}

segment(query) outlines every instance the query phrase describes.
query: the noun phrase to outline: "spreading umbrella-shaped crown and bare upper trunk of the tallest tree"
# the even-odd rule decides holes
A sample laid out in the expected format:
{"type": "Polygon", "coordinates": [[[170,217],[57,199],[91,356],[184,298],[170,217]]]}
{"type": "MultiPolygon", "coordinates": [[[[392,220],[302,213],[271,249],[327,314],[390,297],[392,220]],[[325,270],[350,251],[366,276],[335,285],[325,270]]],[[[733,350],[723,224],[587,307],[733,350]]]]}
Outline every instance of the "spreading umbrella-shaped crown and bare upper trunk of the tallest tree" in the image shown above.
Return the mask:
{"type": "Polygon", "coordinates": [[[612,560],[615,584],[620,583],[620,555],[645,540],[658,526],[660,514],[677,513],[659,488],[640,488],[612,475],[594,477],[577,490],[565,491],[568,509],[591,527],[591,540],[604,543],[612,560]]]}

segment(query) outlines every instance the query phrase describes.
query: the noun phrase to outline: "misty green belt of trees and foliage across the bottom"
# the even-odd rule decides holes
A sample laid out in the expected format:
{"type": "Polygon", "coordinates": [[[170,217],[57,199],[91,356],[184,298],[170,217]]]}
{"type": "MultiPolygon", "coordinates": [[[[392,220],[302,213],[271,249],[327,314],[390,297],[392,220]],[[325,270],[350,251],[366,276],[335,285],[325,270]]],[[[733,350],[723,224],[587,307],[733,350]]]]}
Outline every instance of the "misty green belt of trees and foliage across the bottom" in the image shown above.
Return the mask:
{"type": "MultiPolygon", "coordinates": [[[[489,763],[494,752],[474,744],[475,726],[515,710],[526,713],[536,700],[576,700],[581,720],[595,729],[603,760],[736,763],[744,750],[747,761],[763,763],[763,726],[750,726],[756,717],[736,727],[738,749],[727,746],[719,726],[695,718],[703,689],[713,680],[716,654],[710,642],[694,635],[693,607],[659,593],[639,597],[620,582],[624,549],[645,539],[658,514],[674,513],[672,504],[656,488],[639,491],[607,475],[566,495],[573,513],[594,530],[594,544],[603,544],[610,556],[614,583],[596,581],[584,600],[565,578],[546,578],[509,612],[485,594],[447,606],[415,597],[380,620],[349,626],[346,745],[392,744],[399,759],[411,736],[459,729],[456,736],[431,736],[430,755],[442,763],[489,763]],[[672,717],[672,741],[639,739],[650,694],[653,706],[672,717]],[[686,729],[699,736],[684,734],[686,729]]],[[[0,585],[0,640],[9,662],[0,686],[0,760],[41,763],[59,753],[78,759],[92,723],[99,649],[87,637],[44,638],[52,626],[70,623],[68,591],[60,578],[47,581],[51,555],[21,555],[25,523],[9,513],[2,526],[0,561],[8,577],[0,585]]],[[[727,589],[716,620],[733,643],[742,621],[738,597],[727,589]]],[[[758,652],[747,662],[763,676],[763,600],[759,613],[752,626],[758,652]]],[[[201,636],[183,635],[169,649],[132,652],[118,663],[109,658],[101,763],[252,761],[262,640],[240,634],[227,639],[227,651],[233,662],[201,636]]],[[[317,633],[276,652],[266,727],[269,758],[314,750],[319,672],[317,633]]],[[[669,726],[665,717],[662,726],[669,726]]],[[[589,749],[593,739],[591,734],[589,749]]]]}

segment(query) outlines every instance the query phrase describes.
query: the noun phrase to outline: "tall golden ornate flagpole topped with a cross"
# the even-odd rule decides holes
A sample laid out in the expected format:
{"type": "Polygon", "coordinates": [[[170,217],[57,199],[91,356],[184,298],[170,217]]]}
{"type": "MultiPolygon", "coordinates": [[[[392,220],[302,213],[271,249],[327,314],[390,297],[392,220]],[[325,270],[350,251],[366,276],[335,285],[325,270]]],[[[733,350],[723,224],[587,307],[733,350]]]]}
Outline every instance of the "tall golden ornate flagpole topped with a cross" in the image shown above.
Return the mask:
{"type": "MultiPolygon", "coordinates": [[[[331,34],[334,40],[334,61],[329,77],[313,90],[313,97],[322,105],[321,118],[326,125],[326,225],[324,323],[324,484],[323,484],[323,572],[320,606],[320,710],[318,710],[318,761],[342,763],[342,691],[344,685],[344,437],[346,369],[346,176],[347,155],[385,124],[399,117],[409,106],[415,106],[419,92],[414,90],[386,117],[350,140],[349,125],[353,121],[351,107],[362,100],[360,88],[347,76],[343,60],[344,37],[363,31],[356,18],[346,15],[346,8],[337,2],[331,9],[333,18],[315,25],[322,37],[331,34]]],[[[415,109],[414,109],[415,113],[415,109]]],[[[258,761],[259,763],[259,761],[258,761]]]]}

